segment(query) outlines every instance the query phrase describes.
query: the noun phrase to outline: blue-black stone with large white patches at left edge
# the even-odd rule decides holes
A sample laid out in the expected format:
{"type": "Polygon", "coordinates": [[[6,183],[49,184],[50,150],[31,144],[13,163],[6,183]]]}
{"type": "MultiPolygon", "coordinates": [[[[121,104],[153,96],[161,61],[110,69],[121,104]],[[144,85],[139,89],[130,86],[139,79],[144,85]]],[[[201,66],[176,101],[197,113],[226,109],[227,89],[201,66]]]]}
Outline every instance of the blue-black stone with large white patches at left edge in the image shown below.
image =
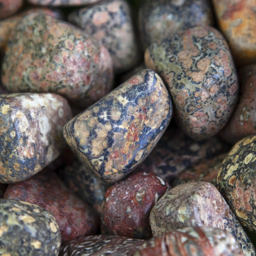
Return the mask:
{"type": "Polygon", "coordinates": [[[62,128],[71,118],[57,94],[0,95],[0,182],[26,180],[59,156],[62,128]]]}

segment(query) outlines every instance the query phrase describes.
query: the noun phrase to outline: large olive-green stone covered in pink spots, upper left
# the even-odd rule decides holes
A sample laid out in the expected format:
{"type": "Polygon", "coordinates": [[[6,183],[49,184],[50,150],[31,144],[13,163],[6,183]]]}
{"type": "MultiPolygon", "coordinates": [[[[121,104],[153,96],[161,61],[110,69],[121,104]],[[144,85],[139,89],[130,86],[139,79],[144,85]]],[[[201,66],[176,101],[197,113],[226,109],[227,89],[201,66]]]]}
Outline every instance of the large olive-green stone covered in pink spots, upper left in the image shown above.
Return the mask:
{"type": "Polygon", "coordinates": [[[112,89],[107,49],[75,26],[49,15],[26,15],[5,49],[2,84],[9,91],[55,92],[81,107],[112,89]]]}

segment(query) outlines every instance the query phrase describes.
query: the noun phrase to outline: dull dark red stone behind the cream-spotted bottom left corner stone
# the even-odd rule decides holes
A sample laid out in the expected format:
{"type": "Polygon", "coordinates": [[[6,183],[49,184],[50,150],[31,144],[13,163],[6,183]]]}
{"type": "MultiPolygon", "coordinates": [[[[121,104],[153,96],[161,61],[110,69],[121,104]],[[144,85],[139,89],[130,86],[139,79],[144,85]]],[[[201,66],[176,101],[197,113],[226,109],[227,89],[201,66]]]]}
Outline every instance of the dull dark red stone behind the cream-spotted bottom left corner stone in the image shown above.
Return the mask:
{"type": "Polygon", "coordinates": [[[59,225],[62,242],[93,235],[98,229],[95,211],[71,193],[54,172],[43,170],[28,180],[10,184],[4,198],[37,204],[51,212],[59,225]]]}

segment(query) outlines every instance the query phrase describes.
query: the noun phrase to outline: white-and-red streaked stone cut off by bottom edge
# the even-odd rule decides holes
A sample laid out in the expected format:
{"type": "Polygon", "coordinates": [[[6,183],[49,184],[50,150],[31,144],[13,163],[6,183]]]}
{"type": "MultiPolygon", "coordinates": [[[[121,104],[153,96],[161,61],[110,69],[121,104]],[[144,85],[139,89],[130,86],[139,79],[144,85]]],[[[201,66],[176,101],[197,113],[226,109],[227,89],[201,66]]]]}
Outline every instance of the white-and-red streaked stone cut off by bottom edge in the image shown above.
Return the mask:
{"type": "Polygon", "coordinates": [[[189,227],[165,233],[140,246],[134,256],[243,256],[234,236],[212,227],[189,227]]]}

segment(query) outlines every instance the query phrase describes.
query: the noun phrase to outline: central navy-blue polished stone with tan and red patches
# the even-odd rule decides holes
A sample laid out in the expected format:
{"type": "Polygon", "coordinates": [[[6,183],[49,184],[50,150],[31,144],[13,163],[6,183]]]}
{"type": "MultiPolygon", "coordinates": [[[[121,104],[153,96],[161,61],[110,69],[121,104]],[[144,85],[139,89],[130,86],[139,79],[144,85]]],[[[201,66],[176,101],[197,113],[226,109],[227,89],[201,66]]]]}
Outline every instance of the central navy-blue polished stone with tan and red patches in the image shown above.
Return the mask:
{"type": "Polygon", "coordinates": [[[128,175],[153,149],[172,117],[158,74],[145,69],[65,124],[64,137],[105,182],[128,175]]]}

